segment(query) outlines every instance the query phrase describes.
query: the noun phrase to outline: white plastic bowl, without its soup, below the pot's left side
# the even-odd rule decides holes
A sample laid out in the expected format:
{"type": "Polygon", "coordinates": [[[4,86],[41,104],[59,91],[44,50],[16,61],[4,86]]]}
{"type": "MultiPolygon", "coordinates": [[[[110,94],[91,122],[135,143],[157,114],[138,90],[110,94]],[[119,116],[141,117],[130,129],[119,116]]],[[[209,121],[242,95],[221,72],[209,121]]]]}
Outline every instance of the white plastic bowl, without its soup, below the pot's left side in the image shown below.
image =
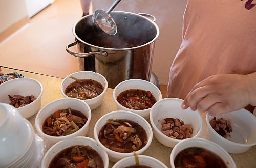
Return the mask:
{"type": "MultiPolygon", "coordinates": [[[[96,73],[96,72],[92,72],[92,71],[79,71],[79,72],[72,73],[69,76],[73,76],[78,79],[92,79],[92,80],[96,80],[99,83],[101,83],[101,85],[104,87],[104,90],[100,95],[98,95],[97,97],[94,97],[92,99],[87,99],[87,100],[82,100],[82,101],[86,102],[90,106],[91,110],[97,108],[103,102],[103,98],[104,98],[106,89],[108,89],[108,81],[106,81],[106,78],[103,75],[96,73]]],[[[75,80],[73,80],[69,77],[66,77],[61,82],[60,92],[64,97],[68,98],[68,96],[65,94],[65,90],[68,87],[68,85],[70,85],[70,83],[72,83],[74,81],[75,80]]]]}

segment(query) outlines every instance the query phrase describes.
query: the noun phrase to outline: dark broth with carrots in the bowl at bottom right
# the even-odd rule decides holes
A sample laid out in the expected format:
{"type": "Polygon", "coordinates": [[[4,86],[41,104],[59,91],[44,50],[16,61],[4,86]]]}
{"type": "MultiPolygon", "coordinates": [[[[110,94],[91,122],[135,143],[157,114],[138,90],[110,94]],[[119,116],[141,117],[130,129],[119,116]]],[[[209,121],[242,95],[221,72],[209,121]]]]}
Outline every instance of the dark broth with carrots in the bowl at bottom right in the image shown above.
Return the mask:
{"type": "Polygon", "coordinates": [[[180,151],[174,159],[174,165],[175,167],[227,168],[218,155],[199,147],[190,147],[180,151]]]}

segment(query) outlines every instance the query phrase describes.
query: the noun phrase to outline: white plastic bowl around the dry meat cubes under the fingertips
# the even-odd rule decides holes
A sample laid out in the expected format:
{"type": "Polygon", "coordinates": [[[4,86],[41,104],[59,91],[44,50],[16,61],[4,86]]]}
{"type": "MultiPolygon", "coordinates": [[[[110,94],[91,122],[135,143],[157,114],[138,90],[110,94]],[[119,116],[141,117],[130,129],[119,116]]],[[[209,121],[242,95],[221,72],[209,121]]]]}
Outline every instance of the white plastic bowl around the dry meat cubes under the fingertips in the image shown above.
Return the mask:
{"type": "Polygon", "coordinates": [[[153,134],[157,140],[167,146],[173,148],[180,139],[174,139],[164,135],[161,131],[161,121],[165,118],[178,118],[184,121],[184,124],[190,124],[193,128],[192,137],[199,137],[203,129],[203,121],[198,111],[192,111],[190,108],[182,109],[182,99],[164,98],[157,101],[150,111],[150,122],[153,128],[153,134]]]}

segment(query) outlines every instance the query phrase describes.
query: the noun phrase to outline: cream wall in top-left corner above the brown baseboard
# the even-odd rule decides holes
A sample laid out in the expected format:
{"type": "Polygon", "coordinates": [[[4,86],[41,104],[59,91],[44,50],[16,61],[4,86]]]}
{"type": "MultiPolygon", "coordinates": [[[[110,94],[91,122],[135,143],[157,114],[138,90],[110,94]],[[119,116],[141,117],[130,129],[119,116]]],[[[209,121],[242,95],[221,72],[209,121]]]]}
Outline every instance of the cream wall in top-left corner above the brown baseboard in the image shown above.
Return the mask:
{"type": "Polygon", "coordinates": [[[0,1],[0,32],[27,16],[25,0],[0,1]]]}

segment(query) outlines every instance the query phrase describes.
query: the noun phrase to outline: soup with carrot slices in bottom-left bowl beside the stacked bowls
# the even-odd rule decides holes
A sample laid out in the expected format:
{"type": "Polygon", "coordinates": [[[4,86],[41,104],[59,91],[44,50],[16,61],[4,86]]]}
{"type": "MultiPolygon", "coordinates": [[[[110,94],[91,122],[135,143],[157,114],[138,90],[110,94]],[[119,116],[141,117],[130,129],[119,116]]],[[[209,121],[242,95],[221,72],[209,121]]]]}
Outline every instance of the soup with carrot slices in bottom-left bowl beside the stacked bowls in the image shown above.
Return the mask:
{"type": "Polygon", "coordinates": [[[104,167],[99,153],[90,146],[77,145],[60,151],[49,164],[49,168],[55,167],[104,167]]]}

